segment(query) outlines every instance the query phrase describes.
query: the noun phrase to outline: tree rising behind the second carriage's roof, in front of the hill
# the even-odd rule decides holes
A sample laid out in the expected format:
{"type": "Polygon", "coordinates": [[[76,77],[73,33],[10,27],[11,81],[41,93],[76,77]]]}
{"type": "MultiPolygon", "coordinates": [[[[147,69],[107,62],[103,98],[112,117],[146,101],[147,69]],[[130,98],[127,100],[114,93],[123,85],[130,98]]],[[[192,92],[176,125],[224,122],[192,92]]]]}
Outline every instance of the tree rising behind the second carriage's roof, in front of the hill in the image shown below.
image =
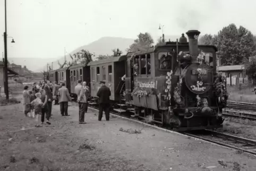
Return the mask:
{"type": "MultiPolygon", "coordinates": [[[[89,62],[92,61],[92,55],[88,50],[80,50],[80,52],[70,55],[70,58],[72,59],[71,62],[69,62],[69,66],[76,65],[76,64],[86,64],[88,65],[89,62]]],[[[95,55],[93,55],[95,56],[95,55]]]]}

